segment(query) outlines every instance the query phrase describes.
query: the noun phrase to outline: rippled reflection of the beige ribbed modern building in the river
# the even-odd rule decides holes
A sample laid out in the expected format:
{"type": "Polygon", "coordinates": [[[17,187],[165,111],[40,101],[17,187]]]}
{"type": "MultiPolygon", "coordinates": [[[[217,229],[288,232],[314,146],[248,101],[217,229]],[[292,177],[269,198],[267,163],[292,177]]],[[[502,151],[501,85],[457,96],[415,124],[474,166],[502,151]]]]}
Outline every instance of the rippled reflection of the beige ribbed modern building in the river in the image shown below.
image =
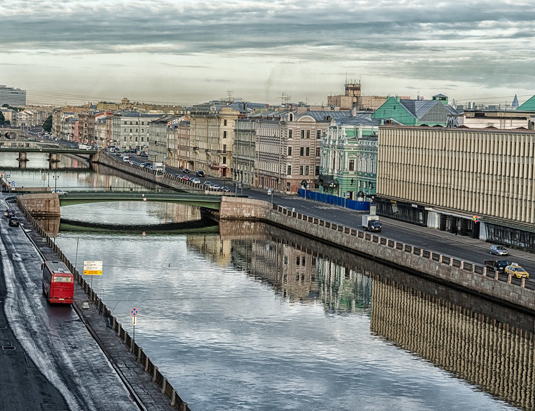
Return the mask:
{"type": "Polygon", "coordinates": [[[379,276],[371,314],[372,332],[515,407],[535,409],[532,332],[379,276]]]}

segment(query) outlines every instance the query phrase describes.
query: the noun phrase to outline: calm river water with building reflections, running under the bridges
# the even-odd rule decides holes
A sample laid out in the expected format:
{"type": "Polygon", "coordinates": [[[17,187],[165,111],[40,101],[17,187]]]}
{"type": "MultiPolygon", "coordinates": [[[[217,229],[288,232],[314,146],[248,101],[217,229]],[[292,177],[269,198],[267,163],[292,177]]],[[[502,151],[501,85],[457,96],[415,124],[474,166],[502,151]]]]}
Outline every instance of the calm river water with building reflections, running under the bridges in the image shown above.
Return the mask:
{"type": "MultiPolygon", "coordinates": [[[[26,187],[44,181],[4,170],[26,187]]],[[[88,168],[58,173],[58,188],[136,187],[88,168]]],[[[103,261],[93,288],[194,411],[535,409],[530,317],[261,223],[164,230],[192,215],[66,206],[71,222],[132,225],[69,226],[56,243],[80,271],[103,261]],[[143,232],[155,222],[161,231],[143,232]]]]}

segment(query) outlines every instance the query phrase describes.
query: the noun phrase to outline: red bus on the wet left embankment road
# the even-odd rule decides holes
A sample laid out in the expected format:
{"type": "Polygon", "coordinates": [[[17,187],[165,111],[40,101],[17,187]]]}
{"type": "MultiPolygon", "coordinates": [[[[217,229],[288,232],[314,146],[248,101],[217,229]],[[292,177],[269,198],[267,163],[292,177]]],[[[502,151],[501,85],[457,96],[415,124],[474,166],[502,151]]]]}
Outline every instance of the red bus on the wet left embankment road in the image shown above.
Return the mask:
{"type": "Polygon", "coordinates": [[[45,261],[43,270],[43,294],[49,303],[72,304],[74,276],[63,261],[45,261]]]}

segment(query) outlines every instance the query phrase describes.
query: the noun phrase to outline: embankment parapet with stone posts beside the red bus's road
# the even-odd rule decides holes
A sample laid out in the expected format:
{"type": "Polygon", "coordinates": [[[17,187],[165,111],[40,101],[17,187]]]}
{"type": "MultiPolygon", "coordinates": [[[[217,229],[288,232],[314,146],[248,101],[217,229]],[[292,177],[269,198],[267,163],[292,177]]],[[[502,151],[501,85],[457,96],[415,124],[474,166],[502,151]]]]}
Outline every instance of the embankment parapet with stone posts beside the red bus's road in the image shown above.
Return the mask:
{"type": "MultiPolygon", "coordinates": [[[[30,196],[30,195],[27,195],[30,196]]],[[[25,196],[25,197],[27,197],[25,196]]],[[[37,195],[42,196],[42,195],[37,195]]],[[[50,196],[50,194],[49,194],[50,196]]],[[[57,195],[53,195],[56,197],[57,195]]],[[[68,269],[71,270],[71,273],[74,275],[75,281],[80,285],[81,289],[87,294],[87,301],[89,301],[91,304],[95,304],[98,311],[104,313],[106,310],[106,305],[103,303],[102,299],[98,297],[97,293],[91,289],[89,283],[83,278],[83,275],[81,275],[76,267],[67,259],[65,254],[62,252],[62,250],[59,249],[59,247],[56,245],[56,243],[53,241],[53,238],[47,235],[47,233],[41,228],[39,223],[36,219],[33,218],[32,215],[30,215],[28,209],[25,207],[25,204],[32,204],[25,203],[22,201],[18,201],[18,206],[20,210],[24,213],[26,216],[26,219],[32,223],[35,230],[39,232],[39,234],[45,239],[50,249],[55,252],[58,256],[58,259],[63,261],[65,265],[68,267],[68,269]]],[[[59,201],[58,201],[58,210],[59,210],[59,201]]],[[[147,354],[143,351],[143,348],[140,347],[135,343],[135,341],[132,339],[132,337],[128,334],[128,332],[123,328],[123,325],[117,322],[116,317],[113,317],[112,319],[112,329],[117,333],[117,335],[123,340],[123,343],[125,345],[125,350],[129,350],[129,352],[133,353],[133,355],[136,358],[136,361],[140,363],[143,370],[148,373],[152,377],[152,381],[155,382],[158,387],[161,389],[162,393],[164,393],[168,398],[170,405],[174,407],[177,410],[180,411],[190,411],[190,408],[188,406],[188,403],[183,401],[179,394],[177,393],[177,390],[173,388],[171,384],[167,382],[167,378],[165,378],[162,373],[158,370],[158,367],[152,363],[150,358],[147,356],[147,354]]]]}

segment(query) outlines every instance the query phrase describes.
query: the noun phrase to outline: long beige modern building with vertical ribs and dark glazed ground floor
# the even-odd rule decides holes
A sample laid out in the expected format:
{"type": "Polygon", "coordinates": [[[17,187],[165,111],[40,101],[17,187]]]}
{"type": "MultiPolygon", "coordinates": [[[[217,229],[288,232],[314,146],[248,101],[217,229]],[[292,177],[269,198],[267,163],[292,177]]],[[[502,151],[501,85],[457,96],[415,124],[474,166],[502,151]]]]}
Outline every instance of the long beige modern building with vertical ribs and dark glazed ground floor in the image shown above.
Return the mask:
{"type": "Polygon", "coordinates": [[[535,250],[534,157],[524,128],[380,126],[378,214],[535,250]]]}

